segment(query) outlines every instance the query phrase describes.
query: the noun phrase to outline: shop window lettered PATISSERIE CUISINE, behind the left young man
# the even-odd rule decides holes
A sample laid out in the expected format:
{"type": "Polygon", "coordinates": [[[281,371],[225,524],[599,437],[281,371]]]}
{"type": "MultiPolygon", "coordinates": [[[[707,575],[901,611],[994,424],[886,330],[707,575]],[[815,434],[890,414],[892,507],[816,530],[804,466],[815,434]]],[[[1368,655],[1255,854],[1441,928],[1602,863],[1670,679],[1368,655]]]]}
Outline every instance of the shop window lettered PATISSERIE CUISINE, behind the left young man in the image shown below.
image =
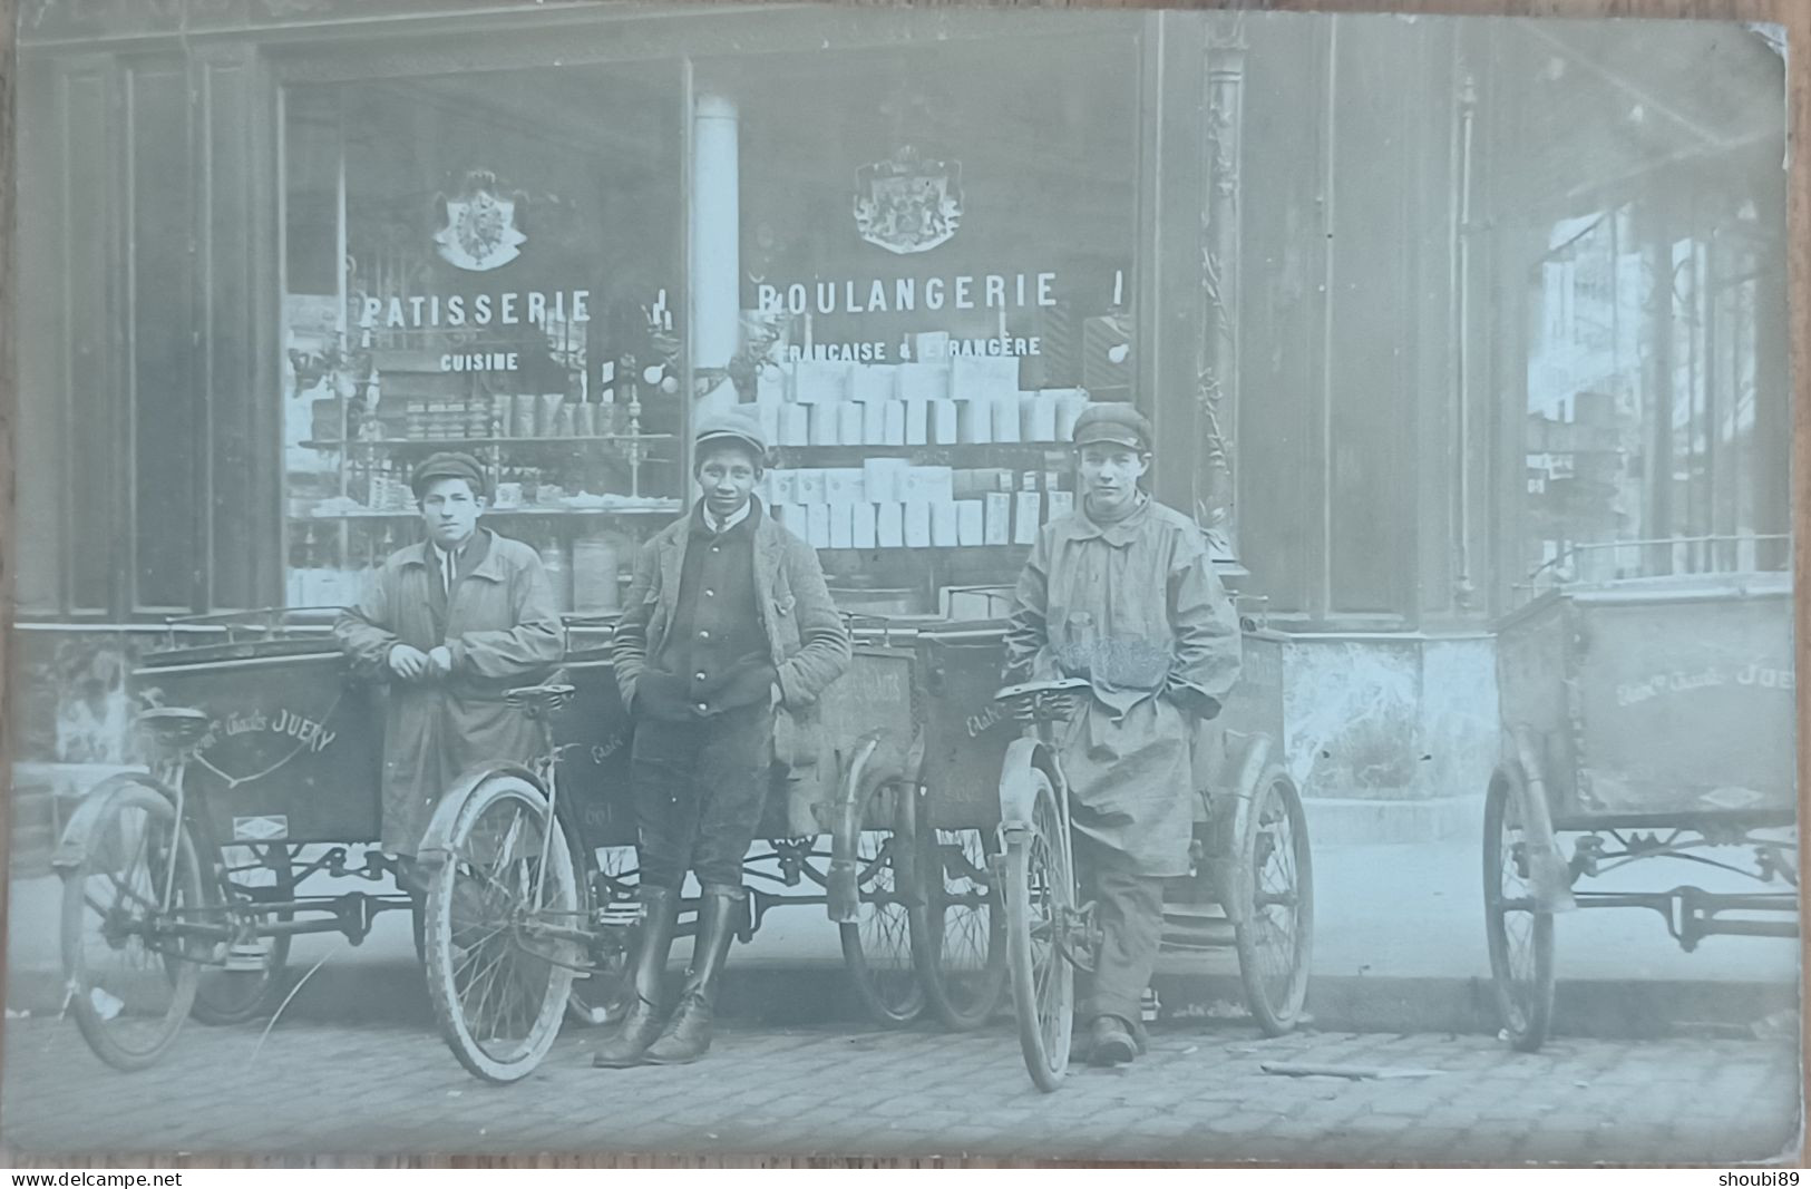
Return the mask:
{"type": "Polygon", "coordinates": [[[618,606],[686,487],[681,94],[672,63],[286,92],[292,606],[418,539],[435,451],[565,608],[618,606]]]}

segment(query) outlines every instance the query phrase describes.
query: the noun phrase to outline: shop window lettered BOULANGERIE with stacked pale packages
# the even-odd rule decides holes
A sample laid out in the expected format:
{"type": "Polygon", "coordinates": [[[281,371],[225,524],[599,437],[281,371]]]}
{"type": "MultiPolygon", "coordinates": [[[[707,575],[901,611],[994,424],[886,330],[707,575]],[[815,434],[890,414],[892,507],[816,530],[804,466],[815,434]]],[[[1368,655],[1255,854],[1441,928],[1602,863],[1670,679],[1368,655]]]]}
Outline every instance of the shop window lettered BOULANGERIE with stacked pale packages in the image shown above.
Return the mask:
{"type": "Polygon", "coordinates": [[[1072,507],[1070,423],[1134,398],[1134,38],[712,62],[695,109],[762,494],[842,606],[1000,614],[1072,507]]]}

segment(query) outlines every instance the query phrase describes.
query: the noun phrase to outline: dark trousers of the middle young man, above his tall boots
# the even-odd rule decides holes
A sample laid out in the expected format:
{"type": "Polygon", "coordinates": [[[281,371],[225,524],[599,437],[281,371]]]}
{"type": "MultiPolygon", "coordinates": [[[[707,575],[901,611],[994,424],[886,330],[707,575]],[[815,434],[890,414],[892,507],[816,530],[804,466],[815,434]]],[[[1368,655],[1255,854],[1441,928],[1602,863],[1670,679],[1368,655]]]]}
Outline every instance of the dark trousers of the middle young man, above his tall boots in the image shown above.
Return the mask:
{"type": "Polygon", "coordinates": [[[636,722],[630,780],[645,887],[741,887],[773,769],[773,711],[741,706],[712,718],[636,722]]]}

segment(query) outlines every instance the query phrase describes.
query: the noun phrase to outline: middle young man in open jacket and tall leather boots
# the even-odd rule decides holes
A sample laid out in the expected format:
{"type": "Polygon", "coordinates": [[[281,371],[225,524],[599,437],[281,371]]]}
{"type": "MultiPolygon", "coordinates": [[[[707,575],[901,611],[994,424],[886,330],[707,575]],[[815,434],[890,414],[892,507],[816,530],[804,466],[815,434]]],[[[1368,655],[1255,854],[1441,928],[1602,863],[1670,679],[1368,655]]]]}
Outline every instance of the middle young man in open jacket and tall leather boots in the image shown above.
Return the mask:
{"type": "Polygon", "coordinates": [[[681,1064],[710,1048],[717,981],[746,896],[743,856],[771,782],[775,713],[810,749],[817,697],[849,664],[817,554],[753,498],[768,449],[759,422],[743,407],[701,418],[695,447],[703,496],[641,547],[612,644],[636,724],[643,921],[636,1003],[594,1061],[610,1070],[681,1064]],[[686,870],[703,907],[685,990],[661,1030],[661,972],[686,870]]]}

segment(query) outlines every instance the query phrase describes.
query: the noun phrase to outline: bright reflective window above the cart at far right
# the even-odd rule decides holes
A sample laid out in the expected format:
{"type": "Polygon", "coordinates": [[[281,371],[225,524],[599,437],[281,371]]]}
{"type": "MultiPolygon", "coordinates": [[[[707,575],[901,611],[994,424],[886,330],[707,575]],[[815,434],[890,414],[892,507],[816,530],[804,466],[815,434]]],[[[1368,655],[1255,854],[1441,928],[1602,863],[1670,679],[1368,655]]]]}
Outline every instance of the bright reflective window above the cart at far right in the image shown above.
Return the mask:
{"type": "Polygon", "coordinates": [[[1787,563],[1786,438],[1762,423],[1782,400],[1760,320],[1780,257],[1751,203],[1691,233],[1681,214],[1630,203],[1556,223],[1530,275],[1525,574],[1787,563]]]}

